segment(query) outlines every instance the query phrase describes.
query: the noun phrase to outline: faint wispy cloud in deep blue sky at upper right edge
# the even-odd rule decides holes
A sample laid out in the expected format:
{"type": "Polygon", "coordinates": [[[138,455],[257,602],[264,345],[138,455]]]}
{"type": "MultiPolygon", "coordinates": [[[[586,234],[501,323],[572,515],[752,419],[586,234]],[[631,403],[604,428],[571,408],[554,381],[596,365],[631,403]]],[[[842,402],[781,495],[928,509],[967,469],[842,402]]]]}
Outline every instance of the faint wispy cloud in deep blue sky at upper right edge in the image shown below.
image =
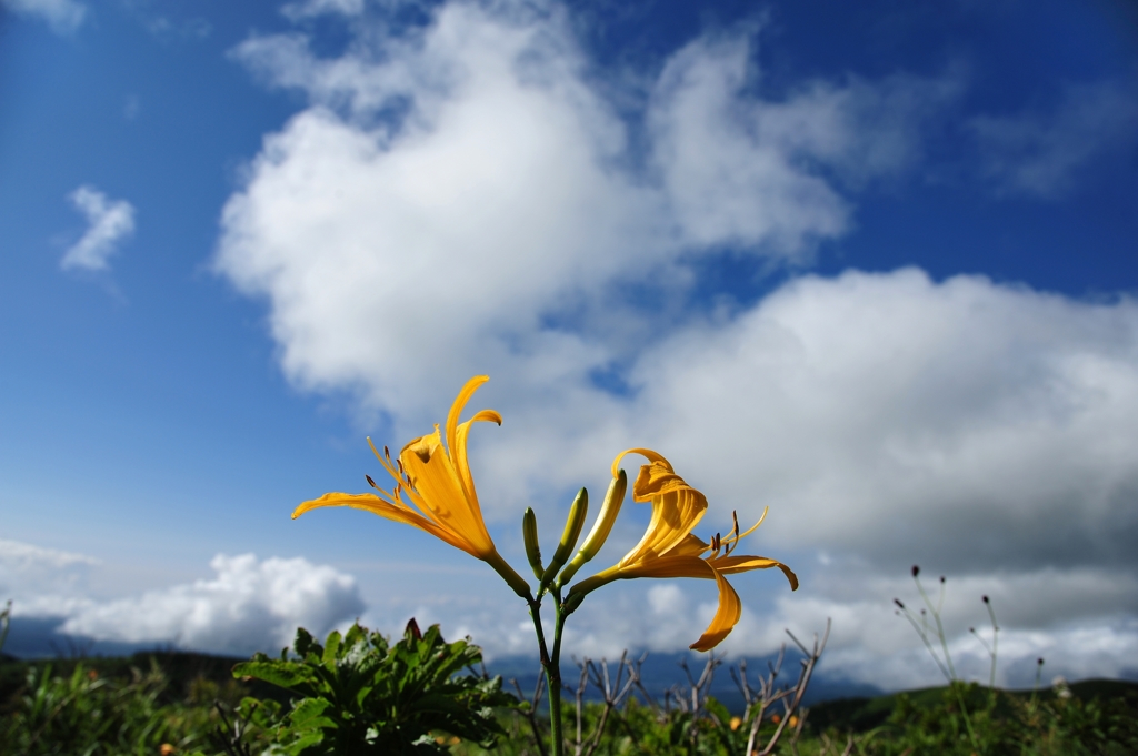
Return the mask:
{"type": "Polygon", "coordinates": [[[1092,161],[1135,143],[1138,95],[1113,82],[1072,84],[1053,113],[978,116],[968,127],[997,191],[1054,199],[1092,161]]]}

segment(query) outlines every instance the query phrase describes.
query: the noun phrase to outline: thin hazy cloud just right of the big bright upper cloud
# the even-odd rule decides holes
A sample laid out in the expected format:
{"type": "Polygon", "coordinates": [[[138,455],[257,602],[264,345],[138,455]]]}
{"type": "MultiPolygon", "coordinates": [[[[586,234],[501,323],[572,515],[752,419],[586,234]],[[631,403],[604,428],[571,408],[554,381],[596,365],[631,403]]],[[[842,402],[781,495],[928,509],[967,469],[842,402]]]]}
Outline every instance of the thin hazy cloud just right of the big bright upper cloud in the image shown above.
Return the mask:
{"type": "Polygon", "coordinates": [[[815,81],[768,101],[747,93],[759,80],[751,44],[701,38],[668,60],[648,113],[654,166],[690,246],[767,246],[793,258],[848,226],[848,202],[827,173],[863,183],[912,165],[916,126],[958,82],[815,81]]]}

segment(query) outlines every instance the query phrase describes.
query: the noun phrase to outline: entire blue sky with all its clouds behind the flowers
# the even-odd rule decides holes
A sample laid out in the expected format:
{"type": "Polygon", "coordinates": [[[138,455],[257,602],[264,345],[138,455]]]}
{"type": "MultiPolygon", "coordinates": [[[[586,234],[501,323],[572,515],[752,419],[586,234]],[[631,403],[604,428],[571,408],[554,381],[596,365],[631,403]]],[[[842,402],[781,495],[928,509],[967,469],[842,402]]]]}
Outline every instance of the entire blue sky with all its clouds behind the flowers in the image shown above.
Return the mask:
{"type": "MultiPolygon", "coordinates": [[[[708,493],[704,537],[770,506],[748,550],[803,578],[734,581],[732,653],[833,616],[831,673],[931,682],[890,609],[922,563],[950,578],[965,668],[988,592],[1007,682],[1040,654],[1136,674],[1130,6],[0,14],[17,615],[245,653],[415,614],[526,653],[522,607],[467,555],[288,518],[364,490],[364,435],[399,447],[485,373],[505,424],[471,454],[511,559],[525,506],[558,531],[648,446],[708,493]]],[[[645,523],[627,507],[599,565],[645,523]]],[[[613,585],[569,642],[678,650],[714,599],[613,585]]]]}

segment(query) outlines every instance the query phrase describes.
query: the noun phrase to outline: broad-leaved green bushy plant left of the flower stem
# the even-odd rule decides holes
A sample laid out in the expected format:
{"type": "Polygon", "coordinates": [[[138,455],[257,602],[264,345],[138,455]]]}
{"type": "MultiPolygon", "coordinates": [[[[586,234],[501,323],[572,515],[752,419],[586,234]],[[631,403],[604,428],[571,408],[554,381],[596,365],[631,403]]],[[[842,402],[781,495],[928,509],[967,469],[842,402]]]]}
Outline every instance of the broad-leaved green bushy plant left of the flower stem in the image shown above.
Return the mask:
{"type": "Polygon", "coordinates": [[[438,625],[422,633],[414,620],[394,645],[355,624],[321,646],[302,628],[294,651],[233,667],[300,697],[277,733],[292,756],[445,754],[462,739],[490,747],[503,732],[495,708],[518,704],[501,678],[457,675],[481,662],[481,649],[447,643],[438,625]]]}

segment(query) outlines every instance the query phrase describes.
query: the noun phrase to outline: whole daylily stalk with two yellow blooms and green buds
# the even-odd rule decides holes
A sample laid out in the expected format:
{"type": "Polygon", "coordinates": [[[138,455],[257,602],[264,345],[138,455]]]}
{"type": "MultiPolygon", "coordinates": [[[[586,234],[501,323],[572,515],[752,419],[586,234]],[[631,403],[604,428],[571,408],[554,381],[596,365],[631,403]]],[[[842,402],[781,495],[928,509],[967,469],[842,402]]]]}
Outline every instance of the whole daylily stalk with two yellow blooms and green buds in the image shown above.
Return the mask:
{"type": "Polygon", "coordinates": [[[693,649],[702,651],[714,648],[726,638],[742,615],[739,593],[727,582],[726,575],[776,567],[786,575],[794,590],[798,589],[798,578],[790,567],[775,559],[734,554],[739,541],[766,517],[766,509],[750,530],[740,532],[739,518],[734,517],[734,526],[726,538],[716,533],[710,541],[704,542],[693,535],[692,530],[708,508],[707,498],[677,475],[663,456],[651,449],[636,448],[622,451],[613,459],[612,481],[601,512],[571,560],[569,555],[577,548],[588,514],[588,491],[580,489],[574,499],[561,540],[547,566],[542,564],[537,516],[533,508],[526,509],[522,515],[522,540],[526,559],[537,579],[537,590],[533,591],[529,582],[495,548],[483,520],[467,460],[467,439],[471,425],[476,422],[502,424],[502,416],[493,409],[483,409],[467,422],[459,422],[467,402],[487,380],[489,379],[480,375],[467,382],[451,406],[445,432],[436,425],[434,433],[411,440],[394,458],[387,447],[380,454],[371,445],[371,439],[368,439],[376,458],[394,480],[394,488],[385,489],[369,475],[365,477],[374,493],[325,493],[319,499],[300,504],[294,510],[292,518],[321,507],[363,509],[428,532],[481,559],[498,573],[529,607],[550,695],[552,754],[563,756],[561,641],[566,620],[577,610],[588,593],[615,580],[634,578],[715,580],[719,589],[719,608],[711,625],[692,643],[693,649]],[[628,476],[620,468],[620,460],[629,454],[641,455],[649,460],[649,464],[641,466],[633,484],[633,500],[652,505],[652,520],[648,531],[640,543],[616,565],[568,587],[568,593],[564,593],[569,581],[600,553],[612,531],[628,488],[628,476]],[[546,595],[553,597],[552,645],[547,642],[542,624],[542,599],[546,595]]]}

